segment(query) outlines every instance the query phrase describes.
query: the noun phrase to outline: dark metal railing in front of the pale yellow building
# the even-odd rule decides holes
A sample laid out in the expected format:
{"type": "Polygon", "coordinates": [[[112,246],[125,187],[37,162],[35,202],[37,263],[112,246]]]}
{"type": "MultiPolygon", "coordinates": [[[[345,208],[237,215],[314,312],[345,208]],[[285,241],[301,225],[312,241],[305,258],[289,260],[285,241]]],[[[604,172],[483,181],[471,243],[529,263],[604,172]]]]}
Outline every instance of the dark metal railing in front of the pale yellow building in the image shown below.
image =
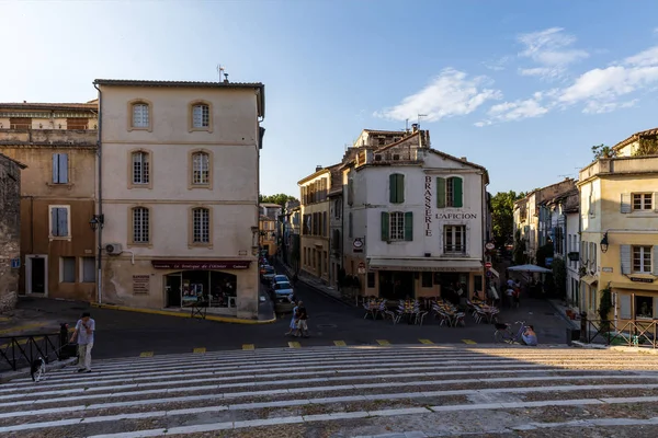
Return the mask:
{"type": "Polygon", "coordinates": [[[582,321],[580,338],[588,344],[627,345],[631,347],[658,348],[658,321],[582,321]],[[585,330],[582,330],[585,328],[585,330]]]}

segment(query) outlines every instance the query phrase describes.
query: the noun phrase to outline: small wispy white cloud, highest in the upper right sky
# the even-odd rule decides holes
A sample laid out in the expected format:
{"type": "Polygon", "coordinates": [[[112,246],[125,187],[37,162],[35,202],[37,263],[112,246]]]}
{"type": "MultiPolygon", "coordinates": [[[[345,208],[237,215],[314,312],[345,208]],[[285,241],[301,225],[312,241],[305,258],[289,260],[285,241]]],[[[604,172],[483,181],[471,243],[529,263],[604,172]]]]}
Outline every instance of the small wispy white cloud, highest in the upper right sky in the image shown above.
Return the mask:
{"type": "Polygon", "coordinates": [[[551,27],[519,35],[517,39],[525,46],[519,56],[532,59],[540,65],[535,68],[520,68],[519,73],[536,76],[542,79],[556,79],[566,73],[570,64],[589,57],[585,50],[570,48],[576,42],[576,37],[565,34],[563,31],[561,27],[551,27]]]}

